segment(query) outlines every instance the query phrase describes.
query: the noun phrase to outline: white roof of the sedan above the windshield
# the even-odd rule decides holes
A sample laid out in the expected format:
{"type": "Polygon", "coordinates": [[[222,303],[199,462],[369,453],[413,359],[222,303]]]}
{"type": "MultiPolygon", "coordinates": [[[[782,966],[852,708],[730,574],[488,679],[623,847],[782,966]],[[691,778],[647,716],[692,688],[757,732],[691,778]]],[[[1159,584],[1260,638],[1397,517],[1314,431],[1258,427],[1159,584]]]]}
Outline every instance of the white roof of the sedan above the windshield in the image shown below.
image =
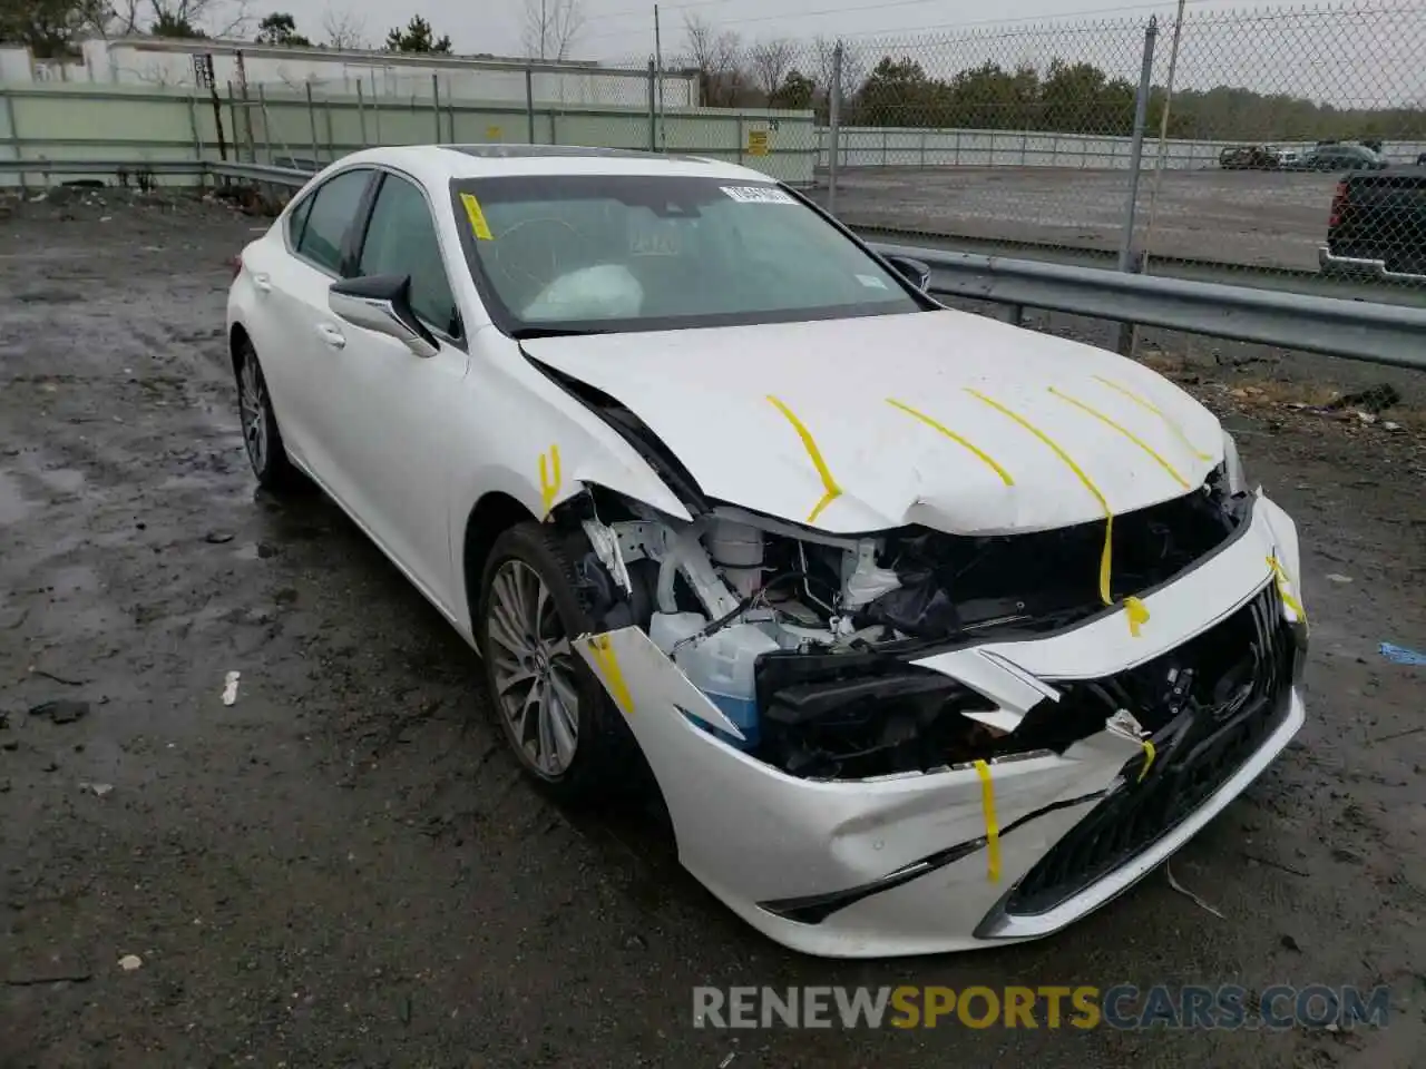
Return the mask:
{"type": "Polygon", "coordinates": [[[352,153],[339,161],[342,165],[359,162],[388,164],[408,171],[431,185],[445,185],[452,178],[495,178],[522,174],[623,174],[771,181],[761,171],[707,157],[663,155],[626,148],[582,148],[578,145],[388,145],[352,153]]]}

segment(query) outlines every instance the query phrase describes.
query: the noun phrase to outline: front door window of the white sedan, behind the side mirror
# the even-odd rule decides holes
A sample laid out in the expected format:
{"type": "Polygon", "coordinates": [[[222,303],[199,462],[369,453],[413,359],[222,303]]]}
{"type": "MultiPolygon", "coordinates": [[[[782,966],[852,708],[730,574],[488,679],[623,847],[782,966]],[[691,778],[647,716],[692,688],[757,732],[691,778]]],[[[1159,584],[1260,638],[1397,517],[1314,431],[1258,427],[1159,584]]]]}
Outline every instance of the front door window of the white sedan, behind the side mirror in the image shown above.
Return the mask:
{"type": "Polygon", "coordinates": [[[388,174],[381,184],[358,274],[409,275],[412,311],[452,338],[461,334],[435,220],[421,190],[405,178],[388,174]]]}

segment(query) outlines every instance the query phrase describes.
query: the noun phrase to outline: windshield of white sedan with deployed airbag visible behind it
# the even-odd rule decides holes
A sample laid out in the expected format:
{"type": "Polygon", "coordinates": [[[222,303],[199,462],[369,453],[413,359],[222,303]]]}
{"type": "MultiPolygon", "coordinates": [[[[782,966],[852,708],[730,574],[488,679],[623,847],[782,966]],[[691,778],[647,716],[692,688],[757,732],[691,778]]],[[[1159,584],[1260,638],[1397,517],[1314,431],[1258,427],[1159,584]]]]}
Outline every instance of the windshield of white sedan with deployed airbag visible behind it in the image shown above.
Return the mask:
{"type": "Polygon", "coordinates": [[[771,184],[519,175],[455,184],[508,334],[663,331],[914,312],[904,282],[771,184]]]}

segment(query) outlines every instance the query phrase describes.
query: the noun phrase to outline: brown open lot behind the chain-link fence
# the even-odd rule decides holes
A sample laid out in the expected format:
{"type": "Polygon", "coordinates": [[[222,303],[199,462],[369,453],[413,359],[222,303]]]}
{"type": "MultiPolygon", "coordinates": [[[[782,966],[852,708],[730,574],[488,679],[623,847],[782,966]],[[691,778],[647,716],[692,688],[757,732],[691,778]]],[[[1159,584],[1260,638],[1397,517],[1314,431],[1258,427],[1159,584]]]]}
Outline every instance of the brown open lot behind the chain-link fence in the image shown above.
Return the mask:
{"type": "MultiPolygon", "coordinates": [[[[1316,271],[1336,181],[1288,171],[1166,171],[1147,247],[1158,257],[1316,271]]],[[[1152,185],[1145,172],[1141,235],[1152,185]]],[[[838,175],[837,215],[851,225],[1117,251],[1128,191],[1128,171],[863,167],[838,175]]]]}

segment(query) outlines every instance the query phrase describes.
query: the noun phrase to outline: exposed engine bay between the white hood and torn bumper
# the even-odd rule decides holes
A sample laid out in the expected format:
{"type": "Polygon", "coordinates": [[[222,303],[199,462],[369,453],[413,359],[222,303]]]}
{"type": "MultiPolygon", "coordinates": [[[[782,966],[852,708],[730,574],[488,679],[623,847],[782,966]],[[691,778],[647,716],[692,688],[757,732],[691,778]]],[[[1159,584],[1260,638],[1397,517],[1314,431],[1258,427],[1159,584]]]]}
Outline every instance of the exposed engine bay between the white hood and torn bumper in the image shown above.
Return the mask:
{"type": "MultiPolygon", "coordinates": [[[[1002,731],[974,716],[994,703],[910,659],[1109,611],[1099,582],[1108,553],[1111,600],[1172,582],[1246,522],[1249,496],[1225,482],[1219,470],[1198,490],[1115,516],[1108,547],[1104,522],[1007,536],[904,527],[843,537],[709,505],[686,523],[600,487],[552,519],[570,536],[593,624],[645,630],[733,730],[702,727],[793,775],[868,778],[1062,751],[1102,728],[1114,697],[1088,693],[1067,706],[1072,716],[1032,710],[1002,731]]],[[[1194,664],[1149,676],[1138,686],[1169,696],[1155,698],[1165,704],[1194,664]]]]}

